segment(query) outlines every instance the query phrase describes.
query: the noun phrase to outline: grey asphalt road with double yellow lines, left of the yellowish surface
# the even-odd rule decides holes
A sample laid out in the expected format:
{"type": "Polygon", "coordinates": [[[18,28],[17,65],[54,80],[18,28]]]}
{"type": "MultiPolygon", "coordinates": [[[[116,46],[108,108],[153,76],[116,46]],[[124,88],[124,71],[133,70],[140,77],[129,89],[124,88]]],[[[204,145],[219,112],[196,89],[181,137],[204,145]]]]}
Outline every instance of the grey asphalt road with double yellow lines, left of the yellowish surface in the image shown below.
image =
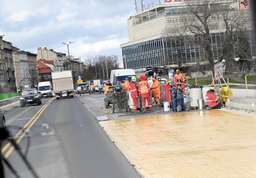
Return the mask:
{"type": "MultiPolygon", "coordinates": [[[[46,98],[40,106],[17,107],[4,115],[13,135],[28,123],[30,132],[20,136],[18,145],[25,153],[30,138],[26,158],[39,177],[140,177],[76,96],[60,100],[46,98]]],[[[6,144],[8,140],[2,142],[2,153],[18,175],[33,177],[18,152],[6,144]]],[[[15,177],[6,164],[4,172],[8,178],[15,177]]]]}

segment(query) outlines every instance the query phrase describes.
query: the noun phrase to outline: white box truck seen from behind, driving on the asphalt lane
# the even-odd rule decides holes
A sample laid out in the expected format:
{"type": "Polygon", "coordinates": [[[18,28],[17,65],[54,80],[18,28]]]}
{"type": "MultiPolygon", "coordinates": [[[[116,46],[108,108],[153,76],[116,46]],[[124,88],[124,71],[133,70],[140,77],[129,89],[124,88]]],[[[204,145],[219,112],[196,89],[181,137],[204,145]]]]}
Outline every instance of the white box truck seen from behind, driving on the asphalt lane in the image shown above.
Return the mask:
{"type": "Polygon", "coordinates": [[[56,100],[62,97],[74,97],[74,86],[71,70],[52,72],[52,85],[56,100]]]}

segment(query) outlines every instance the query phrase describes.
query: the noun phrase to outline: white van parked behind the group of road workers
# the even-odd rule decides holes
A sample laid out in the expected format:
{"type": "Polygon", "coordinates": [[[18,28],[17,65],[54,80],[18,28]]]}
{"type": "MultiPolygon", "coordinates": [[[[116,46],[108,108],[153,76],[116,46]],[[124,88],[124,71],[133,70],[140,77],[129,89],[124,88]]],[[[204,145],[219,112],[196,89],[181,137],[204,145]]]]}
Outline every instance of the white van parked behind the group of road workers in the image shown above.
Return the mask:
{"type": "Polygon", "coordinates": [[[117,81],[124,83],[125,78],[129,79],[129,82],[131,81],[131,78],[135,76],[136,74],[133,69],[115,69],[111,70],[110,74],[110,83],[112,85],[115,85],[117,81]]]}

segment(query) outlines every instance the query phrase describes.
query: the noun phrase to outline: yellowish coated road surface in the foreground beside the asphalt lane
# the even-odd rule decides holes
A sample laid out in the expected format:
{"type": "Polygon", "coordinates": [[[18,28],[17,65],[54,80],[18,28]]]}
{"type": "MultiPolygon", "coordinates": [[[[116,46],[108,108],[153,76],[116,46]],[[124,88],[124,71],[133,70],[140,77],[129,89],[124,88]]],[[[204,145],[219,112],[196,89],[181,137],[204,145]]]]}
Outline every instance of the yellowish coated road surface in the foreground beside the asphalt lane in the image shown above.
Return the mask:
{"type": "Polygon", "coordinates": [[[255,113],[181,112],[100,125],[142,177],[256,177],[255,113]]]}

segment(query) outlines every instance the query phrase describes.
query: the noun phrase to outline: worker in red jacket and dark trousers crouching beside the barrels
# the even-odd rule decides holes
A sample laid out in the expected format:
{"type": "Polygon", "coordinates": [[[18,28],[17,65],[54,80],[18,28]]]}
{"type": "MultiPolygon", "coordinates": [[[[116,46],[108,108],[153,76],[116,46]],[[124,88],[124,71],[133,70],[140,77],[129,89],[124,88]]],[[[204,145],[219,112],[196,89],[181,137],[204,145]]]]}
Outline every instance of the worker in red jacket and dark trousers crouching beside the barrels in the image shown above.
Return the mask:
{"type": "Polygon", "coordinates": [[[210,87],[210,90],[206,92],[206,101],[208,104],[208,107],[206,110],[210,109],[222,109],[222,103],[220,102],[220,98],[218,98],[215,94],[215,88],[210,87]]]}

